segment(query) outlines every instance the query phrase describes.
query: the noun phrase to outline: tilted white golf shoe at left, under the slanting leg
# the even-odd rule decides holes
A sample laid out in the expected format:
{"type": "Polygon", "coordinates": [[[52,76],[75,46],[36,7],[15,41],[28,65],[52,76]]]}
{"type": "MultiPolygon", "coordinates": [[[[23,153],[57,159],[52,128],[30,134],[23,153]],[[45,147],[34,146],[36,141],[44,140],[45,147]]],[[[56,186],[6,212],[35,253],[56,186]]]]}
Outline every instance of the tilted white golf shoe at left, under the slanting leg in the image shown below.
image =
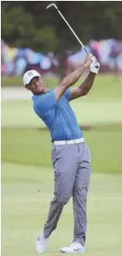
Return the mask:
{"type": "Polygon", "coordinates": [[[47,248],[48,238],[43,237],[43,231],[36,241],[36,251],[37,253],[43,253],[47,248]]]}

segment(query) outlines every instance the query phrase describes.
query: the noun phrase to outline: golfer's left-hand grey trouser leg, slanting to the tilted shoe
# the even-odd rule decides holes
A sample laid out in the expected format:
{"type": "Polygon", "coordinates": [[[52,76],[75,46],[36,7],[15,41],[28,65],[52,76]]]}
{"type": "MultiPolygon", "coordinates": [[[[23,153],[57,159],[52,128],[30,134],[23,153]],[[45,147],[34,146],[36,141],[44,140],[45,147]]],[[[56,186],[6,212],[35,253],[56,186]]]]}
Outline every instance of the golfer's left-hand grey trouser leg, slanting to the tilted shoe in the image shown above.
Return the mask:
{"type": "Polygon", "coordinates": [[[48,220],[44,225],[44,237],[57,227],[64,205],[73,195],[74,179],[79,162],[77,145],[53,147],[54,198],[50,203],[48,220]]]}

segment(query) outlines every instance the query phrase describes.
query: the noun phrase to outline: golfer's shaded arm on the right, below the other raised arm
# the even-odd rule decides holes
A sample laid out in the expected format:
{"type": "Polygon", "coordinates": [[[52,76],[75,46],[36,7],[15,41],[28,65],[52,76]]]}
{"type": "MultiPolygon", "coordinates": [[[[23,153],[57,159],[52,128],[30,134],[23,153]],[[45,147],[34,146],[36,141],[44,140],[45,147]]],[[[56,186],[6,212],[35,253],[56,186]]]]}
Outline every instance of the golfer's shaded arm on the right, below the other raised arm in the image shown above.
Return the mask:
{"type": "Polygon", "coordinates": [[[70,95],[69,95],[69,101],[72,99],[77,99],[81,96],[86,95],[89,93],[90,88],[92,88],[92,85],[94,83],[95,78],[94,72],[89,72],[88,77],[85,78],[84,82],[79,85],[77,88],[71,88],[70,89],[70,95]]]}

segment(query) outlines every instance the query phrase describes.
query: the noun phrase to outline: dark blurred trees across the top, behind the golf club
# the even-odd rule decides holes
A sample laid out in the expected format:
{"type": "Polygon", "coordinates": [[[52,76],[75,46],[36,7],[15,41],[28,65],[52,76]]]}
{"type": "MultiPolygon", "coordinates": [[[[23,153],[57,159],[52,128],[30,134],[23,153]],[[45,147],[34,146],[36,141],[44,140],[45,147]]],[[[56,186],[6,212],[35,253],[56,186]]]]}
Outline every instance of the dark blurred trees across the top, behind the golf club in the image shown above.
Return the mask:
{"type": "MultiPolygon", "coordinates": [[[[46,10],[49,3],[2,2],[1,34],[9,45],[15,47],[30,47],[42,53],[59,53],[61,66],[64,67],[65,51],[79,51],[80,45],[58,12],[54,8],[46,10]]],[[[84,44],[91,39],[122,38],[121,2],[54,3],[84,44]]]]}

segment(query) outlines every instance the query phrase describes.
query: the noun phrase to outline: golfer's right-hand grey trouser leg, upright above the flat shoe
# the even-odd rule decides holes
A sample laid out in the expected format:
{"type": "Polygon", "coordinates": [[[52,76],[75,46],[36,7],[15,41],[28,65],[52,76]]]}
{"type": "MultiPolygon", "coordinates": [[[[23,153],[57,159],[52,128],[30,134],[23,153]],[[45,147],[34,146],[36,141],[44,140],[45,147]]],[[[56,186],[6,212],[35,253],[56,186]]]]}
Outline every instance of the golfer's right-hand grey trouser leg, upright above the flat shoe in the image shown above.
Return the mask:
{"type": "Polygon", "coordinates": [[[80,161],[77,169],[74,189],[74,241],[84,246],[87,227],[86,202],[91,171],[89,149],[85,143],[79,146],[80,161]]]}

